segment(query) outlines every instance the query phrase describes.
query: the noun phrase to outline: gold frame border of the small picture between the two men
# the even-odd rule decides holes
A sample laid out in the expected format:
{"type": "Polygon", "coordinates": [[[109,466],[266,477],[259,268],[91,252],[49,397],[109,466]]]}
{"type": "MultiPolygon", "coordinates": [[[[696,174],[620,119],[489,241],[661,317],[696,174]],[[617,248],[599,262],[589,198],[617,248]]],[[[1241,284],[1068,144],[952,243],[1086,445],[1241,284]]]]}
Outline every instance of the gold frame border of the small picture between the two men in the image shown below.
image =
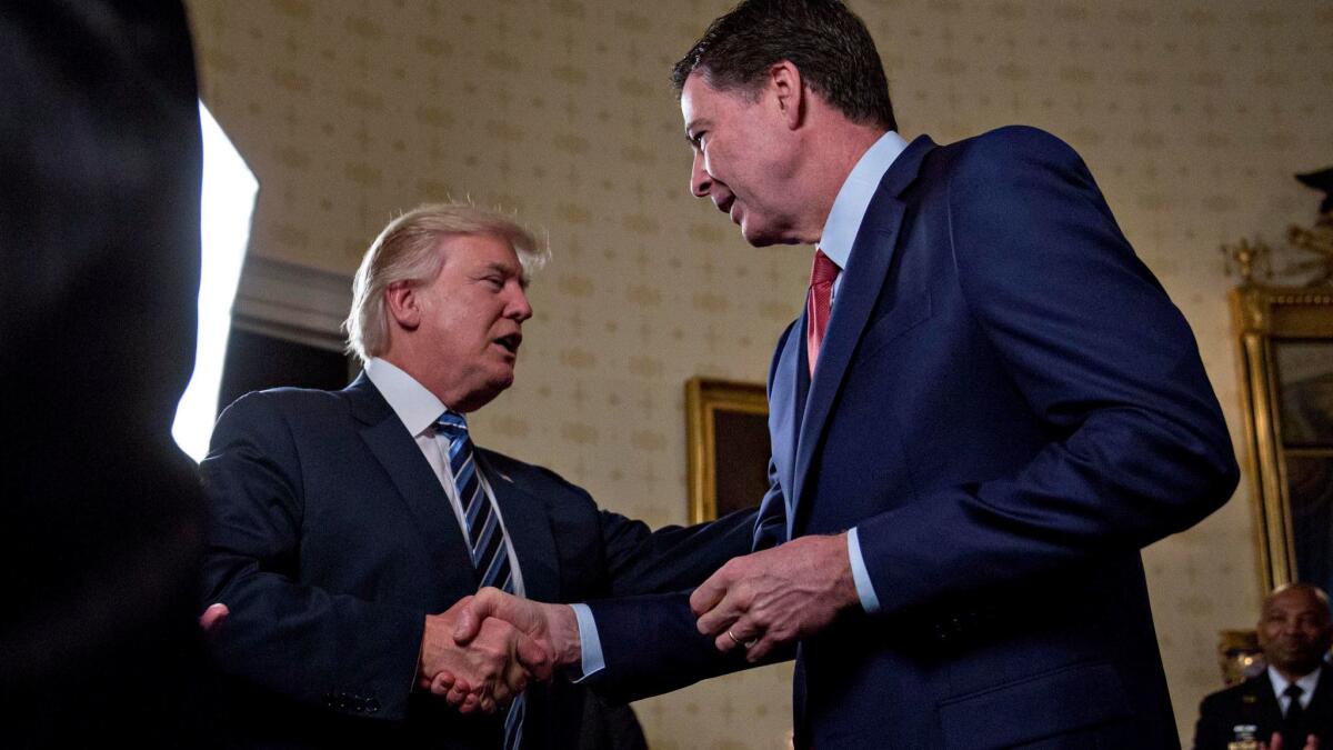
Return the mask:
{"type": "MultiPolygon", "coordinates": [[[[768,415],[768,395],[758,383],[690,378],[685,383],[685,430],[689,470],[689,522],[717,518],[717,412],[768,415]]],[[[765,451],[766,451],[765,446],[765,451]]],[[[758,498],[756,498],[757,502],[758,498]]]]}

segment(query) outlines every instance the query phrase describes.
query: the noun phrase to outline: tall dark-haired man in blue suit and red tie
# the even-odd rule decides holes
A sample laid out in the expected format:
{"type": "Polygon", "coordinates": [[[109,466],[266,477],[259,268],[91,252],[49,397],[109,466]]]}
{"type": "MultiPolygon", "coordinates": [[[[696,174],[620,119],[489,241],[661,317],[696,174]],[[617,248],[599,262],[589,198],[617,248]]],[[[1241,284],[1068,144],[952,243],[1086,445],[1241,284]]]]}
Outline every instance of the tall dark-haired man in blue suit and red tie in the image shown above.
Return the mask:
{"type": "MultiPolygon", "coordinates": [[[[665,690],[797,646],[801,747],[1177,747],[1140,548],[1237,468],[1088,168],[1032,128],[904,140],[833,0],[741,3],[674,80],[692,192],[754,246],[820,250],[769,372],[761,551],[688,602],[593,603],[593,679],[665,690]]],[[[541,639],[564,617],[476,605],[465,625],[541,639]]]]}

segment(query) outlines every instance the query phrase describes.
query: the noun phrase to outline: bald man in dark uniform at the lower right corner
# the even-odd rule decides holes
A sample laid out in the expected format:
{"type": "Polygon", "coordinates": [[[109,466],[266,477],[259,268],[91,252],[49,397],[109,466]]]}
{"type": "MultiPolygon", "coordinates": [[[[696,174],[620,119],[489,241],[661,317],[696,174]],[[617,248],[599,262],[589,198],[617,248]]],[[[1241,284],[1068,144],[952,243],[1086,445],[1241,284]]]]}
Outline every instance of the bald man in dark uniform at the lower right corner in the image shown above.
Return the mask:
{"type": "Polygon", "coordinates": [[[1268,669],[1204,698],[1194,750],[1228,750],[1246,737],[1286,749],[1333,742],[1333,679],[1324,679],[1333,646],[1333,615],[1322,590],[1282,586],[1264,599],[1258,645],[1268,669]]]}

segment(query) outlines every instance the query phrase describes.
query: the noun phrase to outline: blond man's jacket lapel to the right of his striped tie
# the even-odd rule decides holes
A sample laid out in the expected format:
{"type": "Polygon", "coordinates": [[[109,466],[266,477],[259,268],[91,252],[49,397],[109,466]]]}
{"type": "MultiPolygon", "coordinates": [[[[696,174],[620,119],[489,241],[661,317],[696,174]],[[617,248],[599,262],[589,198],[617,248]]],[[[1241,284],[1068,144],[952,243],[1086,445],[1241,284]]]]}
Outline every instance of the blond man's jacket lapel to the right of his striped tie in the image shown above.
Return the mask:
{"type": "Polygon", "coordinates": [[[491,491],[500,506],[504,528],[513,543],[523,575],[524,593],[529,599],[555,602],[560,598],[560,573],[556,570],[556,540],[547,522],[547,504],[495,468],[487,451],[477,450],[477,466],[485,474],[491,491]]]}

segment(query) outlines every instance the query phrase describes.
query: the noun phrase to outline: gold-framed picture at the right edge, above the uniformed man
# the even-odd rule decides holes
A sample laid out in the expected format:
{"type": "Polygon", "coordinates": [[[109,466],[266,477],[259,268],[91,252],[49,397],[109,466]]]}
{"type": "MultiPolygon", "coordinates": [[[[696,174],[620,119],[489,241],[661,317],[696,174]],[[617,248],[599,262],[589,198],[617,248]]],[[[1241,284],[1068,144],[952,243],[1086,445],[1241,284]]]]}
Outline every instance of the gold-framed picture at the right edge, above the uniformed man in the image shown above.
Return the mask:
{"type": "Polygon", "coordinates": [[[1326,587],[1329,566],[1309,560],[1328,559],[1333,532],[1309,508],[1333,498],[1333,288],[1245,284],[1230,306],[1261,590],[1326,587]]]}

